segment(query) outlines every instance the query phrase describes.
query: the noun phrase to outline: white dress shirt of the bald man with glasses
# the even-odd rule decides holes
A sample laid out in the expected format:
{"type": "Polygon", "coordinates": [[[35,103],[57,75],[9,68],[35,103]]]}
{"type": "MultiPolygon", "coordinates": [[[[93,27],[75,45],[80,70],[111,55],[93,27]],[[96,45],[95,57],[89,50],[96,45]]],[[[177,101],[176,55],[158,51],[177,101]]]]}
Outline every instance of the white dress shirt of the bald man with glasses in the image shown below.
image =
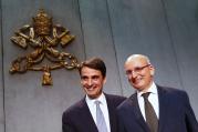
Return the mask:
{"type": "MultiPolygon", "coordinates": [[[[153,82],[152,87],[148,89],[147,92],[150,92],[149,97],[148,97],[148,101],[152,103],[155,113],[157,115],[157,119],[159,119],[159,100],[158,100],[158,92],[157,92],[157,87],[156,84],[153,82]]],[[[144,98],[142,97],[144,92],[139,92],[137,91],[137,100],[138,100],[138,104],[140,108],[140,112],[146,121],[146,115],[145,115],[145,104],[144,104],[144,98]]]]}

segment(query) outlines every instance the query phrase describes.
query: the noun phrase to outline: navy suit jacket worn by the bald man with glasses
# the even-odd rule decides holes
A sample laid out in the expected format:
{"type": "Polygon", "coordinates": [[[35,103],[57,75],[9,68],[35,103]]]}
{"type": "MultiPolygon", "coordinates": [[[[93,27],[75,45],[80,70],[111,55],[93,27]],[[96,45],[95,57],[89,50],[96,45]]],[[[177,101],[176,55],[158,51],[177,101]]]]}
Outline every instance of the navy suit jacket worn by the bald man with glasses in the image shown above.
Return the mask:
{"type": "MultiPolygon", "coordinates": [[[[198,123],[185,91],[157,87],[159,98],[158,132],[198,132],[198,123]]],[[[142,115],[137,93],[118,108],[118,132],[149,132],[142,115]]]]}

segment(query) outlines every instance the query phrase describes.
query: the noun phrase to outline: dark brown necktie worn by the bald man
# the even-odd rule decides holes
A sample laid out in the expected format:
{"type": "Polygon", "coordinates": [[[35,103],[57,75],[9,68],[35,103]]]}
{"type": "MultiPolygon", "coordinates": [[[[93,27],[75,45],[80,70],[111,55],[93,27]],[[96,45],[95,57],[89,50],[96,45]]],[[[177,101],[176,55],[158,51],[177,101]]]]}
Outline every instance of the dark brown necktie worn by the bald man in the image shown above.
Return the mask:
{"type": "Polygon", "coordinates": [[[150,132],[157,132],[158,119],[154,111],[154,108],[152,106],[150,102],[148,101],[148,95],[149,95],[149,92],[143,93],[143,98],[145,101],[146,123],[148,124],[150,132]]]}

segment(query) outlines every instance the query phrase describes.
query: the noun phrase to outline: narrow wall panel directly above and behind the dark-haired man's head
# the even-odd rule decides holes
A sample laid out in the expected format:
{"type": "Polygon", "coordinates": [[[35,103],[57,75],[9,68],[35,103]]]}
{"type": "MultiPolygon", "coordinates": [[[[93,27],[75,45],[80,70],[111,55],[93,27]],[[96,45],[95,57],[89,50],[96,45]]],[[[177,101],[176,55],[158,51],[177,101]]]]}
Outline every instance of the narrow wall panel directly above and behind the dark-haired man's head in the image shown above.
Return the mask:
{"type": "Polygon", "coordinates": [[[100,57],[107,67],[105,91],[122,94],[106,0],[80,0],[86,58],[100,57]]]}

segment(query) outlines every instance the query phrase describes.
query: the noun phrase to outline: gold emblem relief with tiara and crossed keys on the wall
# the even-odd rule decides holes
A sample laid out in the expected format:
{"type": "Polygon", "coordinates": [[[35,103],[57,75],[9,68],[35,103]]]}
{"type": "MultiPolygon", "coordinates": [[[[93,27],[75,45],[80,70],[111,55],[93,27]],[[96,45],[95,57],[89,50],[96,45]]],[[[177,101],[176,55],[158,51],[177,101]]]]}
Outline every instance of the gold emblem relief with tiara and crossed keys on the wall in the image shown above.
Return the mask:
{"type": "Polygon", "coordinates": [[[51,85],[51,71],[64,68],[72,70],[79,68],[77,59],[67,52],[61,52],[55,48],[61,44],[62,48],[74,40],[74,35],[60,24],[53,24],[52,18],[43,9],[32,18],[32,24],[20,28],[11,41],[22,49],[31,47],[33,51],[18,57],[12,61],[10,73],[24,73],[27,71],[42,71],[42,84],[51,85]],[[43,60],[51,62],[46,64],[43,60]]]}

